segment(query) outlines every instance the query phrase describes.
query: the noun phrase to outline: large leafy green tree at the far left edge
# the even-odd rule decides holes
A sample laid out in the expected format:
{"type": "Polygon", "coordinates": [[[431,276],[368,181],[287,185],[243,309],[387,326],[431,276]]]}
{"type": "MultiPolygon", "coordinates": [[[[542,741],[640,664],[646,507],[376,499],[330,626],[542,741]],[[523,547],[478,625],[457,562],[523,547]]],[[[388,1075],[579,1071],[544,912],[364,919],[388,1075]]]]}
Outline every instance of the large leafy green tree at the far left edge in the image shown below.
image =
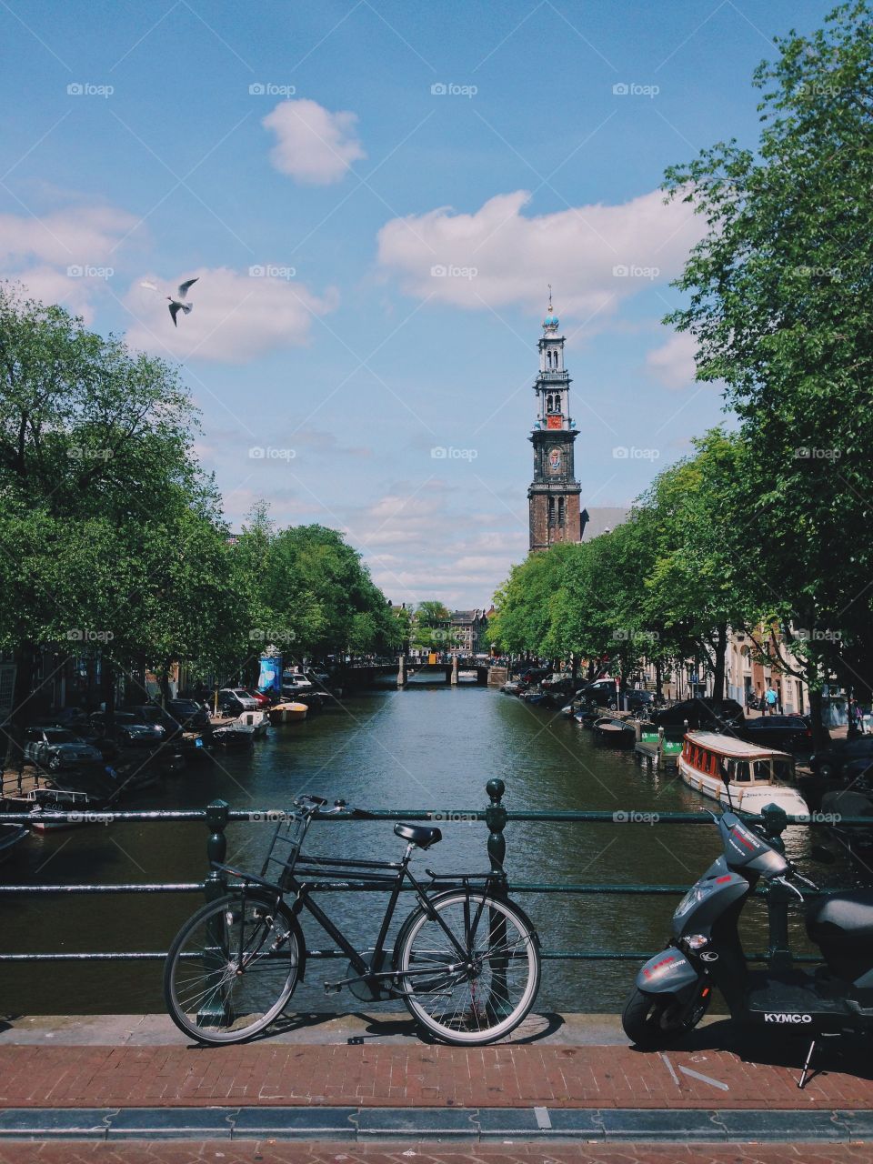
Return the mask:
{"type": "Polygon", "coordinates": [[[106,648],[136,624],[142,591],[125,585],[136,574],[129,547],[168,499],[214,518],[214,490],[191,455],[193,426],[166,364],[0,286],[0,552],[15,580],[0,615],[16,663],[10,762],[38,645],[106,648]]]}

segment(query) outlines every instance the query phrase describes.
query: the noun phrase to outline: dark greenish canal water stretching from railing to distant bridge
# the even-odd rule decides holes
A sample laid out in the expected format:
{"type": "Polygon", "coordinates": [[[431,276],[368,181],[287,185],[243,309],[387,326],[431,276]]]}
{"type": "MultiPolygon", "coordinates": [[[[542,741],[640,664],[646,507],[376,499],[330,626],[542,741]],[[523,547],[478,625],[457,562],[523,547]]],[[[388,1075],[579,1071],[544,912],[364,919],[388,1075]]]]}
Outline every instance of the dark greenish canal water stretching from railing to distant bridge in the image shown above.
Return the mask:
{"type": "MultiPolygon", "coordinates": [[[[674,773],[659,773],[633,752],[599,746],[572,719],[482,687],[413,687],[345,698],[301,724],[272,728],[244,753],[214,764],[189,765],[177,776],[143,790],[126,808],[203,808],[221,796],[233,808],[282,809],[303,792],[374,809],[426,809],[446,816],[442,842],[417,857],[417,870],[488,868],[488,830],[464,811],[488,803],[485,782],[505,781],[504,803],[521,809],[602,809],[616,824],[506,826],[506,870],[512,881],[556,885],[675,885],[687,887],[712,860],[712,825],[634,823],[633,817],[695,811],[704,801],[674,773]],[[622,823],[622,818],[624,822],[622,823]]],[[[260,871],[271,835],[268,823],[228,829],[227,863],[260,871]]],[[[0,867],[0,883],[118,883],[197,881],[206,872],[203,824],[92,824],[34,836],[0,867]]],[[[790,856],[802,860],[807,830],[794,829],[790,856]]],[[[396,859],[403,843],[391,823],[314,824],[312,852],[396,859]]],[[[807,873],[822,879],[821,867],[807,873]]],[[[826,880],[845,883],[845,871],[826,880]]],[[[524,894],[544,949],[552,951],[652,951],[669,932],[676,897],[605,893],[524,894]]],[[[332,916],[371,944],[377,895],[331,894],[332,916]]],[[[412,899],[405,901],[411,906],[412,899]]],[[[404,899],[402,899],[402,906],[404,899]]],[[[0,944],[6,951],[166,950],[198,895],[0,897],[0,944]]],[[[403,910],[400,910],[403,913],[403,910]]],[[[751,950],[766,945],[762,907],[746,923],[751,950]]],[[[310,949],[332,945],[304,915],[310,949]]],[[[802,941],[800,925],[795,937],[802,941]]],[[[620,1009],[638,961],[545,963],[538,1009],[620,1009]]],[[[325,996],[324,981],[343,975],[345,963],[311,961],[294,1006],[305,1010],[357,1007],[350,995],[325,996]]],[[[0,1006],[17,1014],[144,1013],[163,1009],[161,963],[0,964],[0,1006]]],[[[389,1003],[397,1009],[397,1003],[389,1003]]],[[[368,1009],[370,1006],[368,1005],[368,1009]]],[[[374,1007],[375,1009],[375,1007],[374,1007]]]]}

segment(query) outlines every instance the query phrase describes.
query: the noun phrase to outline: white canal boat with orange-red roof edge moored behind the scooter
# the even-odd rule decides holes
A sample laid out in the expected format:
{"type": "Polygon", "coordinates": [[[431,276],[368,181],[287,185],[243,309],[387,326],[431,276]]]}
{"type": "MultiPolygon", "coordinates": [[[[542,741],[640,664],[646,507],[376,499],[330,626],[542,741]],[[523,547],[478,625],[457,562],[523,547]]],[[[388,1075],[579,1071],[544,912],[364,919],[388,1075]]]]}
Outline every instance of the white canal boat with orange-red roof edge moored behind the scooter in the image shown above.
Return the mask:
{"type": "Polygon", "coordinates": [[[772,747],[759,747],[733,736],[709,731],[686,733],[677,760],[679,772],[689,788],[728,803],[722,779],[730,778],[730,799],[734,809],[760,814],[765,804],[778,804],[789,816],[808,817],[809,808],[796,788],[794,757],[772,747]]]}

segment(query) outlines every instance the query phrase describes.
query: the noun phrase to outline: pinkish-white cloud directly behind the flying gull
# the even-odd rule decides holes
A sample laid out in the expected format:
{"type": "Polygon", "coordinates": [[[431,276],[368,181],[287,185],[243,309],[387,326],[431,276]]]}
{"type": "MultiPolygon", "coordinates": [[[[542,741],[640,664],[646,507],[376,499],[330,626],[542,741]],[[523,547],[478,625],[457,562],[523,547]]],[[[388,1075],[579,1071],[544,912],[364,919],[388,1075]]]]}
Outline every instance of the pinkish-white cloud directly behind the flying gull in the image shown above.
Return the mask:
{"type": "Polygon", "coordinates": [[[142,278],[162,290],[148,291],[140,279],[132,284],[125,299],[134,315],[128,343],[173,360],[247,363],[267,352],[300,347],[308,341],[313,315],[333,311],[338,303],[333,290],[319,297],[296,279],[240,274],[227,267],[201,267],[168,279],[142,278]],[[179,313],[178,327],[173,327],[164,296],[175,292],[180,279],[194,277],[199,282],[189,292],[193,311],[179,313]]]}

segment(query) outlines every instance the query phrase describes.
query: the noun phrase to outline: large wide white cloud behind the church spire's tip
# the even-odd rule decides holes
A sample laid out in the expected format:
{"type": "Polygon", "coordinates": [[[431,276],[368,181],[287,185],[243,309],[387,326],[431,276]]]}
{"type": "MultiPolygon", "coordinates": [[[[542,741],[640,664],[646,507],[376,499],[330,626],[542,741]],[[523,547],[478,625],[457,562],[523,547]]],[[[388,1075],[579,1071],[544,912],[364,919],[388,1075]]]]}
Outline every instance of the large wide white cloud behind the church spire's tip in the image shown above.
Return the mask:
{"type": "Polygon", "coordinates": [[[409,294],[476,310],[519,304],[541,312],[551,283],[555,306],[585,319],[673,278],[703,229],[683,203],[665,205],[659,191],[538,217],[521,213],[530,200],[519,190],[474,214],[439,207],[393,219],[379,230],[378,261],[409,294]]]}

